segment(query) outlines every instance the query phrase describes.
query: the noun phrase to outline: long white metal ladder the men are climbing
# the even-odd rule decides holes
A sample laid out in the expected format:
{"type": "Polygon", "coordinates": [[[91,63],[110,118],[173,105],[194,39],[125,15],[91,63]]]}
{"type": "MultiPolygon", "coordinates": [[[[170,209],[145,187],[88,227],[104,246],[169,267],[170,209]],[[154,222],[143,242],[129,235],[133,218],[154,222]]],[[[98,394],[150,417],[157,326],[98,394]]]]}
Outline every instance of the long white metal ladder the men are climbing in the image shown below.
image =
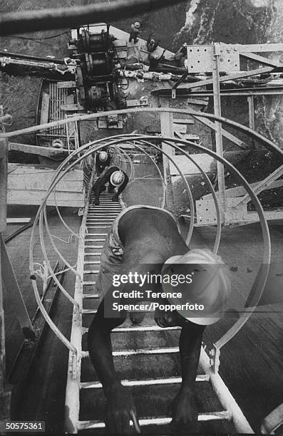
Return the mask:
{"type": "MultiPolygon", "coordinates": [[[[91,361],[86,351],[86,334],[88,328],[84,318],[88,317],[90,321],[93,315],[96,313],[98,307],[98,299],[100,296],[91,292],[93,285],[96,283],[95,277],[98,274],[100,266],[101,250],[103,249],[103,242],[106,239],[108,230],[113,223],[115,217],[121,210],[120,203],[112,202],[112,196],[103,192],[101,194],[101,204],[99,206],[93,205],[93,197],[90,197],[89,204],[86,206],[83,221],[81,224],[81,235],[78,246],[78,271],[80,277],[76,279],[75,289],[75,301],[78,302],[81,310],[74,308],[73,311],[73,326],[71,331],[71,343],[78,350],[78,358],[76,368],[74,368],[74,356],[70,352],[69,367],[68,367],[68,380],[66,387],[66,432],[68,434],[83,433],[88,434],[88,431],[92,435],[103,434],[105,424],[102,420],[81,419],[81,416],[86,417],[88,413],[83,411],[83,405],[81,398],[83,395],[89,393],[98,393],[99,398],[103,398],[102,385],[99,381],[90,380],[82,381],[83,370],[81,368],[90,368],[91,361]],[[96,308],[95,306],[96,301],[96,308]],[[82,377],[81,377],[82,375],[82,377]]],[[[113,330],[113,343],[118,336],[127,334],[128,332],[146,334],[148,332],[158,331],[177,331],[178,327],[160,328],[156,325],[150,326],[120,326],[113,330]]],[[[165,356],[176,355],[179,352],[178,346],[170,347],[156,347],[156,348],[132,348],[113,351],[113,357],[119,359],[127,359],[130,356],[165,356]]],[[[235,402],[234,398],[230,394],[226,385],[220,378],[218,373],[214,373],[210,367],[210,361],[202,348],[200,356],[200,365],[202,366],[202,373],[197,375],[197,386],[203,383],[208,383],[210,389],[213,388],[216,392],[215,401],[217,403],[216,409],[222,409],[220,411],[212,410],[211,412],[201,412],[198,414],[198,420],[200,422],[216,422],[216,425],[220,422],[226,422],[225,432],[232,431],[232,426],[235,425],[237,431],[252,433],[251,427],[245,416],[242,414],[239,406],[235,402]],[[204,372],[204,373],[203,373],[204,372]],[[230,422],[230,430],[227,430],[227,422],[230,422]]],[[[94,378],[94,377],[93,377],[94,378]]],[[[176,387],[181,383],[180,376],[170,376],[165,378],[142,378],[142,379],[128,379],[122,380],[123,385],[130,388],[148,387],[148,389],[155,387],[168,386],[176,387]]],[[[89,398],[89,397],[88,397],[89,398]]],[[[83,404],[92,404],[92,400],[84,400],[83,404]]],[[[99,406],[98,406],[99,407],[99,406]]],[[[93,410],[95,405],[93,403],[93,410]]],[[[153,410],[155,412],[155,410],[153,410]]],[[[168,427],[166,425],[170,423],[171,418],[167,416],[151,416],[140,417],[140,426],[145,427],[147,434],[169,434],[168,427]],[[155,430],[153,430],[155,429],[155,430]],[[166,429],[166,430],[164,430],[166,429]],[[150,431],[151,430],[151,431],[150,431]]],[[[133,425],[133,422],[132,422],[133,425]]],[[[217,427],[218,432],[219,427],[217,427]]]]}

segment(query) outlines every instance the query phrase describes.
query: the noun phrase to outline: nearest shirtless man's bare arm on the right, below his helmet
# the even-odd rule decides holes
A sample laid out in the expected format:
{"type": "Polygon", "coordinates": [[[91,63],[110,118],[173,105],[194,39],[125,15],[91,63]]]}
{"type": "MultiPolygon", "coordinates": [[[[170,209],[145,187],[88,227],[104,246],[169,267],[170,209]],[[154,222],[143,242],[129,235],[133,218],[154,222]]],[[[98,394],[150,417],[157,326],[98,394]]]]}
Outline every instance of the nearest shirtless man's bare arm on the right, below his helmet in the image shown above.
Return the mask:
{"type": "Polygon", "coordinates": [[[187,322],[180,334],[180,358],[182,384],[171,405],[172,427],[175,431],[197,431],[197,407],[195,405],[195,378],[200,359],[202,333],[205,326],[187,322]]]}

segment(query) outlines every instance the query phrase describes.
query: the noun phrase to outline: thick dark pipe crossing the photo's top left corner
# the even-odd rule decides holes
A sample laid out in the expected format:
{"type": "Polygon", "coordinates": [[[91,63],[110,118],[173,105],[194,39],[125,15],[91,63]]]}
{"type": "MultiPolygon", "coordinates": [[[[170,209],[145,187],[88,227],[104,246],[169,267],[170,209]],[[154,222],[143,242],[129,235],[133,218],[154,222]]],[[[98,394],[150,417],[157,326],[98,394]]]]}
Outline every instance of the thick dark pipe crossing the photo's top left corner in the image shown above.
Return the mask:
{"type": "Polygon", "coordinates": [[[184,0],[114,0],[71,8],[41,9],[2,14],[0,18],[0,36],[34,31],[46,31],[56,28],[72,28],[83,24],[103,21],[115,21],[145,14],[153,9],[183,3],[184,0]]]}

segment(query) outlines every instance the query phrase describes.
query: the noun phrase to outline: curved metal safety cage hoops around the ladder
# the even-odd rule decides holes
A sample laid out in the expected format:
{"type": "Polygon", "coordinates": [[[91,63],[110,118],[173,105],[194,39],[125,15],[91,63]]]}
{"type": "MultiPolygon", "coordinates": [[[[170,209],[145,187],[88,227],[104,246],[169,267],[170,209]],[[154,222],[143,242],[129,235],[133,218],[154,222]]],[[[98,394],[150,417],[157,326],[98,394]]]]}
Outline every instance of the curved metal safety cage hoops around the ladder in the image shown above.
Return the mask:
{"type": "MultiPolygon", "coordinates": [[[[134,112],[169,112],[169,113],[182,113],[185,115],[192,115],[197,117],[204,117],[204,118],[210,118],[212,120],[217,120],[220,123],[224,123],[226,125],[229,125],[230,127],[233,127],[237,130],[240,130],[241,132],[246,133],[253,139],[259,141],[262,145],[267,147],[269,150],[272,150],[272,152],[277,152],[280,156],[280,160],[282,160],[282,150],[279,149],[277,145],[275,145],[272,141],[268,140],[267,138],[264,138],[262,135],[259,135],[258,133],[255,133],[253,130],[250,130],[249,128],[246,128],[243,125],[240,125],[239,123],[235,123],[234,121],[227,120],[226,118],[217,117],[215,115],[207,114],[207,113],[195,113],[195,111],[192,110],[180,110],[175,108],[143,108],[143,109],[131,109],[131,110],[120,110],[120,111],[110,111],[105,114],[91,114],[91,115],[80,115],[75,116],[73,118],[68,118],[68,120],[60,120],[56,121],[55,123],[49,123],[46,126],[43,126],[44,128],[53,127],[53,125],[59,125],[64,123],[72,123],[76,120],[86,120],[86,119],[93,119],[93,118],[99,118],[102,115],[115,115],[116,113],[134,113],[134,112]]],[[[40,128],[43,128],[42,126],[38,126],[35,128],[27,128],[21,133],[29,133],[31,131],[39,130],[40,128]]],[[[4,136],[11,137],[14,135],[17,135],[19,131],[13,132],[13,133],[6,133],[4,136]]],[[[58,248],[56,247],[56,243],[54,242],[54,237],[51,235],[49,226],[48,226],[48,219],[46,214],[46,202],[48,197],[51,195],[51,193],[55,194],[56,197],[56,186],[58,185],[58,182],[62,180],[64,175],[71,170],[75,165],[81,165],[81,168],[84,171],[84,182],[86,185],[86,201],[88,201],[88,198],[90,196],[90,190],[91,185],[93,182],[93,168],[95,167],[95,159],[96,159],[96,152],[98,150],[101,150],[103,147],[110,147],[110,150],[113,154],[114,160],[113,162],[116,163],[116,165],[120,166],[121,169],[127,170],[129,172],[129,179],[130,182],[135,180],[135,168],[133,165],[133,160],[131,160],[130,156],[128,155],[128,152],[123,150],[122,147],[120,147],[123,143],[128,143],[132,147],[134,147],[140,154],[147,155],[150,162],[153,163],[155,168],[157,169],[158,175],[160,177],[160,180],[162,182],[163,186],[163,197],[160,201],[159,206],[165,207],[166,204],[166,196],[167,196],[167,190],[168,190],[168,180],[166,180],[165,175],[162,174],[160,168],[156,164],[155,160],[152,156],[148,154],[144,150],[145,145],[150,145],[150,147],[153,147],[153,149],[157,150],[158,152],[161,152],[163,156],[165,156],[172,164],[174,165],[175,169],[177,170],[177,174],[180,175],[180,178],[182,180],[182,183],[185,187],[186,195],[187,195],[187,202],[188,202],[188,208],[190,209],[190,224],[187,231],[187,237],[186,237],[186,243],[189,246],[190,240],[192,238],[192,232],[194,229],[195,224],[195,204],[194,199],[192,196],[192,191],[190,189],[190,184],[187,181],[187,178],[180,170],[180,167],[178,167],[177,163],[173,160],[172,156],[170,156],[165,150],[160,149],[158,142],[164,142],[171,147],[173,147],[174,150],[177,150],[179,154],[182,154],[184,159],[187,159],[188,161],[192,162],[193,165],[197,167],[197,170],[200,172],[202,177],[204,177],[205,184],[207,185],[207,189],[210,190],[212,194],[212,198],[215,204],[215,210],[216,210],[216,216],[217,216],[217,232],[215,234],[215,242],[213,246],[213,251],[217,253],[217,250],[220,246],[221,241],[221,233],[222,233],[222,224],[221,224],[221,208],[219,204],[219,199],[217,198],[217,192],[215,192],[215,188],[212,185],[212,182],[210,181],[210,178],[207,176],[207,174],[202,170],[201,165],[199,165],[194,160],[194,155],[189,154],[182,150],[182,145],[190,145],[192,150],[195,150],[195,152],[202,152],[206,153],[210,157],[212,157],[216,162],[219,162],[221,165],[224,165],[227,170],[229,170],[232,175],[235,176],[235,179],[237,179],[243,187],[245,187],[245,190],[247,194],[249,195],[250,199],[252,200],[252,204],[254,205],[255,210],[257,211],[259,222],[262,229],[262,239],[263,239],[263,250],[262,250],[262,259],[259,259],[259,271],[257,274],[257,277],[254,281],[254,284],[252,286],[251,295],[252,295],[252,301],[250,301],[250,307],[246,311],[244,311],[239,320],[236,321],[235,325],[232,326],[232,328],[225,333],[222,338],[220,338],[219,341],[215,344],[216,351],[219,351],[220,348],[227,343],[227,341],[230,341],[230,339],[235,336],[237,331],[242,328],[242,326],[245,324],[249,316],[251,315],[254,308],[257,306],[257,303],[259,302],[260,296],[262,295],[262,291],[264,290],[264,286],[267,281],[267,275],[269,271],[269,262],[270,262],[270,256],[271,256],[271,245],[270,245],[270,237],[269,237],[269,229],[267,226],[266,218],[264,217],[264,211],[262,209],[262,205],[259,202],[259,199],[257,198],[257,194],[254,193],[254,190],[252,187],[250,187],[247,180],[245,180],[245,177],[243,177],[239,170],[237,170],[230,162],[228,162],[224,157],[220,157],[212,150],[208,150],[205,147],[202,147],[201,145],[197,145],[194,142],[190,141],[183,141],[180,139],[176,139],[173,137],[156,137],[151,135],[133,135],[133,134],[127,134],[127,135],[116,135],[112,137],[100,139],[100,140],[93,140],[92,142],[89,142],[86,145],[83,145],[79,147],[77,150],[73,151],[68,157],[66,157],[66,160],[64,160],[61,165],[58,166],[54,176],[53,180],[51,182],[50,187],[48,188],[46,192],[46,196],[43,199],[43,202],[41,206],[38,209],[38,213],[36,215],[36,219],[34,222],[34,228],[31,235],[31,244],[30,244],[30,270],[31,270],[31,279],[32,284],[34,287],[34,294],[36,296],[36,301],[38,303],[38,307],[40,308],[41,312],[43,313],[44,318],[46,318],[47,323],[53,330],[53,332],[60,338],[60,340],[69,348],[69,350],[73,353],[76,358],[80,359],[80,351],[73,346],[71,341],[68,341],[68,339],[63,336],[61,331],[58,330],[57,326],[53,323],[51,318],[49,318],[48,314],[46,313],[43,304],[41,303],[40,294],[38,292],[38,286],[36,284],[36,259],[34,259],[34,241],[35,241],[35,232],[36,227],[38,225],[39,229],[39,235],[40,235],[40,241],[41,241],[41,250],[43,254],[44,264],[46,265],[46,271],[48,271],[46,274],[49,274],[55,283],[58,285],[58,288],[61,289],[63,294],[66,296],[66,298],[71,301],[73,304],[75,310],[78,312],[78,316],[80,316],[82,307],[81,303],[76,301],[76,299],[73,299],[73,297],[68,293],[66,289],[59,283],[56,274],[53,273],[53,270],[51,269],[50,261],[48,260],[48,255],[46,251],[46,243],[45,239],[47,238],[48,241],[51,243],[51,246],[53,247],[53,250],[56,251],[60,259],[63,261],[63,263],[66,266],[66,269],[71,271],[74,276],[76,276],[76,279],[78,281],[82,282],[81,274],[78,273],[78,265],[72,266],[67,259],[62,256],[58,248]]],[[[73,230],[66,224],[63,217],[61,216],[61,213],[56,205],[56,210],[58,213],[58,216],[60,217],[61,221],[63,222],[63,225],[68,229],[68,231],[71,234],[71,237],[74,237],[78,240],[80,240],[80,235],[76,234],[76,232],[73,232],[73,230]]],[[[80,249],[80,246],[78,246],[78,249],[80,249]]]]}

